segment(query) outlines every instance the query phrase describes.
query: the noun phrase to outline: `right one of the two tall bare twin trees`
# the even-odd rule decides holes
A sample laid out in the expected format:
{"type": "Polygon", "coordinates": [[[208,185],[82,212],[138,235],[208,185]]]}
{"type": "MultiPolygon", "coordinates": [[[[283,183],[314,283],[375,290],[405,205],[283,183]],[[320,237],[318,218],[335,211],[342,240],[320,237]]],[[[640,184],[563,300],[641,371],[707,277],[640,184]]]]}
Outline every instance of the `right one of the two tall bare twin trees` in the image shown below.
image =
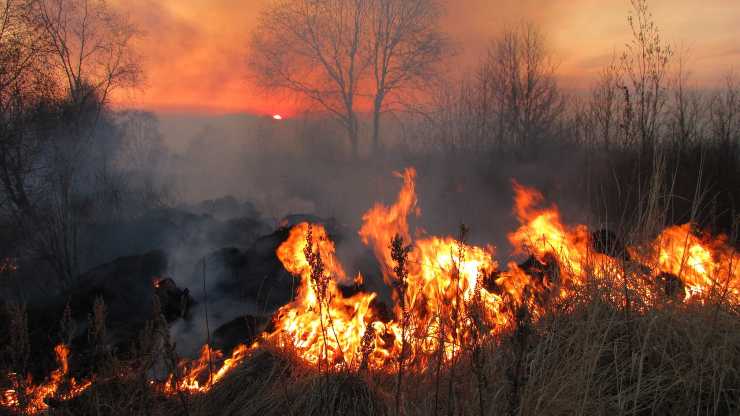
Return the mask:
{"type": "Polygon", "coordinates": [[[404,90],[428,85],[447,51],[437,29],[441,7],[436,0],[376,0],[370,8],[373,97],[373,150],[380,150],[380,118],[386,106],[402,102],[404,90]],[[395,96],[396,102],[387,104],[395,96]]]}

